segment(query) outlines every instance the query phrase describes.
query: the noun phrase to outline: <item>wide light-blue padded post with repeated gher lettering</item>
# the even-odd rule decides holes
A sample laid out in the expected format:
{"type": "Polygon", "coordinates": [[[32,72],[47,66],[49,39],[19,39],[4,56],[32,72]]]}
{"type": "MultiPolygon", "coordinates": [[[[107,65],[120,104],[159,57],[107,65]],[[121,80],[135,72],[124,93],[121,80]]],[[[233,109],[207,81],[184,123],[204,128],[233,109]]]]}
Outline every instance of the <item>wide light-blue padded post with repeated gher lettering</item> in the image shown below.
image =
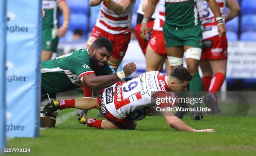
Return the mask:
{"type": "Polygon", "coordinates": [[[41,10],[40,0],[7,1],[7,137],[40,134],[41,10]]]}

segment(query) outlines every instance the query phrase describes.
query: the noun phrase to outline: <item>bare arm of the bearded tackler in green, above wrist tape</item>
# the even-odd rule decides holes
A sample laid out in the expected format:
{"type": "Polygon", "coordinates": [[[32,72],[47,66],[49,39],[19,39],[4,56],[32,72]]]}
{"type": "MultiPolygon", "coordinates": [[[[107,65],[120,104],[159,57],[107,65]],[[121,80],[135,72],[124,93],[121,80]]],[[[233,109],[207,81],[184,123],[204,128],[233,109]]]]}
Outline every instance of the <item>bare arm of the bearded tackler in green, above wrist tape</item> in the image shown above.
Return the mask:
{"type": "Polygon", "coordinates": [[[120,78],[116,73],[111,75],[96,76],[95,74],[84,75],[82,79],[83,83],[92,90],[108,88],[113,84],[120,81],[120,78]]]}

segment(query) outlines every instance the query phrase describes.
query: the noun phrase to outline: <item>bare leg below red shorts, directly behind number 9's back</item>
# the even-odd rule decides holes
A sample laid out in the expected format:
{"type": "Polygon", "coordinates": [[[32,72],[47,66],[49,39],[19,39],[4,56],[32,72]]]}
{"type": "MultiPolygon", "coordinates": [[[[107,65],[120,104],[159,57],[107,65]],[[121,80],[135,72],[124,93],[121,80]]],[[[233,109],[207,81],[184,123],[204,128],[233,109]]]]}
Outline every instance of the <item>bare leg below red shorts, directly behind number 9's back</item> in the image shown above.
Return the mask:
{"type": "MultiPolygon", "coordinates": [[[[146,50],[146,72],[158,70],[160,71],[163,67],[164,56],[158,55],[150,45],[146,50]]],[[[160,71],[161,72],[161,71],[160,71]]]]}

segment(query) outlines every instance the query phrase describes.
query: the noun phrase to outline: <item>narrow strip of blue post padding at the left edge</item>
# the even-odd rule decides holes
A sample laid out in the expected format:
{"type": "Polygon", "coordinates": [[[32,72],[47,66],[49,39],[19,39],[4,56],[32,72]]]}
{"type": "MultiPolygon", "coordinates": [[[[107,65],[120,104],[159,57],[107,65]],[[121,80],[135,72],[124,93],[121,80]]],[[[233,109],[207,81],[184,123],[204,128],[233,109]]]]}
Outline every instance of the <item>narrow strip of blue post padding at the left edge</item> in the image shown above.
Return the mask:
{"type": "Polygon", "coordinates": [[[6,1],[0,1],[0,153],[5,143],[5,27],[6,1]]]}

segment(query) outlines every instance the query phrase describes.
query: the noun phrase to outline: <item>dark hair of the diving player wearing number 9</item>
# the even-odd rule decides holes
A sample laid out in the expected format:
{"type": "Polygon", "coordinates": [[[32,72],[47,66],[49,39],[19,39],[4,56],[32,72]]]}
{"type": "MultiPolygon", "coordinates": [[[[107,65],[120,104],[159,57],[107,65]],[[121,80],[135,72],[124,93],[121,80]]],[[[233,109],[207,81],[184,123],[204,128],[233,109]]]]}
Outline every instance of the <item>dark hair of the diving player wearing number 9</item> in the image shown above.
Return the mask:
{"type": "Polygon", "coordinates": [[[192,80],[192,75],[189,73],[189,70],[181,65],[174,67],[170,75],[174,78],[178,78],[182,82],[192,80]]]}

